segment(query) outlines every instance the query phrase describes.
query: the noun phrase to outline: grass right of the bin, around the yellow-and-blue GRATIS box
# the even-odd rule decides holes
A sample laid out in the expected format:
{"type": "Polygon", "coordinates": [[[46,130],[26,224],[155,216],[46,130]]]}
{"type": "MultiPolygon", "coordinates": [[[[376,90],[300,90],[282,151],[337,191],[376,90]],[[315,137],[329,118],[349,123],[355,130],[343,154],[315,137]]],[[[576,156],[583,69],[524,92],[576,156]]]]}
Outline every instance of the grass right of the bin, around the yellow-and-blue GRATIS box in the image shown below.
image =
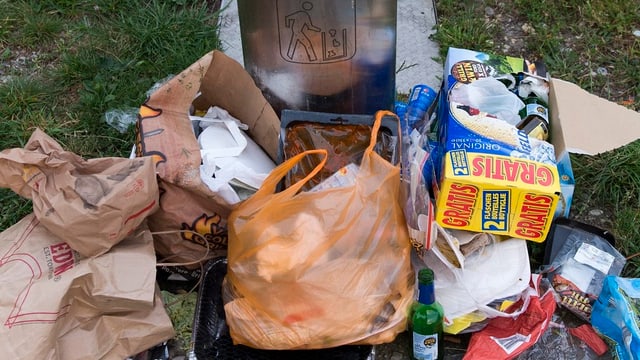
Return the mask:
{"type": "MultiPolygon", "coordinates": [[[[449,46],[544,61],[553,77],[632,110],[640,110],[640,3],[625,0],[436,1],[434,40],[449,46]]],[[[606,121],[606,119],[603,119],[606,121]]],[[[593,134],[597,141],[597,134],[593,134]]],[[[624,276],[640,277],[640,142],[596,156],[574,155],[571,217],[604,211],[624,276]]],[[[532,250],[539,251],[535,246],[532,250]]]]}

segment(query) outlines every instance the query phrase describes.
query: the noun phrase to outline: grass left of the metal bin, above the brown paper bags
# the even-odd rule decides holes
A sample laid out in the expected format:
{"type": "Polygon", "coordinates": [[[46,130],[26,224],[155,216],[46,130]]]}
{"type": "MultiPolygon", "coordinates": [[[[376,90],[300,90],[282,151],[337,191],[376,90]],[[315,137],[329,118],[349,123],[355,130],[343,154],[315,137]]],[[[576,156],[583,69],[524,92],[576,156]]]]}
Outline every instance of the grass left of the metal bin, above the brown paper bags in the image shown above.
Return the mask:
{"type": "MultiPolygon", "coordinates": [[[[0,149],[35,128],[85,158],[128,156],[133,129],[105,113],[139,106],[158,81],[220,49],[203,1],[0,0],[0,149]]],[[[0,230],[31,211],[0,189],[0,230]]]]}

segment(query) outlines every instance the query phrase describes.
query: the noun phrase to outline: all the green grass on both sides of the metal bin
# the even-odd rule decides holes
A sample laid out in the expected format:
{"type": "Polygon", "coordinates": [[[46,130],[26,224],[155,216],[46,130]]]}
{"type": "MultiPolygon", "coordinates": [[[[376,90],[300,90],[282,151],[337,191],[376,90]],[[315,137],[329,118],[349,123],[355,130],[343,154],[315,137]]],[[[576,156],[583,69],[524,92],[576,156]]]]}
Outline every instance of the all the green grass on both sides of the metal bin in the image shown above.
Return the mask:
{"type": "MultiPolygon", "coordinates": [[[[133,130],[105,113],[139,106],[156,82],[220,49],[214,1],[0,0],[0,149],[44,129],[86,158],[128,156],[133,130]]],[[[434,35],[449,46],[543,60],[557,78],[640,110],[640,3],[440,0],[434,35]]],[[[594,134],[597,136],[597,134],[594,134]]],[[[594,141],[597,141],[594,140],[594,141]]],[[[640,143],[572,155],[572,216],[605,211],[625,256],[640,252],[640,143]]],[[[31,211],[0,189],[0,230],[31,211]]],[[[624,275],[638,277],[640,258],[624,275]]]]}

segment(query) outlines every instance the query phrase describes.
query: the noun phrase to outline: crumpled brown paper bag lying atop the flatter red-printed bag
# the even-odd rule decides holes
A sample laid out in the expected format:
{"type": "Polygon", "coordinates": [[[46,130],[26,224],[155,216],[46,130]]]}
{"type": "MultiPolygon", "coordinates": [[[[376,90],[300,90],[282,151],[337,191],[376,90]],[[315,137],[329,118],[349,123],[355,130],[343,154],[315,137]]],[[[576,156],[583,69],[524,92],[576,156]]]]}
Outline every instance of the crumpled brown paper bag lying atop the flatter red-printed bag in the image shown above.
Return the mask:
{"type": "Polygon", "coordinates": [[[88,257],[108,251],[158,209],[151,157],[85,160],[39,129],[24,149],[0,152],[0,170],[0,187],[31,199],[42,224],[88,257]]]}

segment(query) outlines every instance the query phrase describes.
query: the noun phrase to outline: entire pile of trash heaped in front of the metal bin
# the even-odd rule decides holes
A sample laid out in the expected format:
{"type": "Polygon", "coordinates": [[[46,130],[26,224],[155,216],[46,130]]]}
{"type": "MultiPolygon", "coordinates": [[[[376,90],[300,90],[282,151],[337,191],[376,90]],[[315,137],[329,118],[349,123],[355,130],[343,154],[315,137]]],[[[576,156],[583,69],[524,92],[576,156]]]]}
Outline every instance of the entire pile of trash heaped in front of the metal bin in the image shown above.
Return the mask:
{"type": "Polygon", "coordinates": [[[441,89],[394,112],[279,118],[212,51],[141,105],[130,158],[36,130],[0,152],[0,186],[33,202],[0,233],[4,353],[142,359],[175,336],[160,291],[180,279],[199,359],[373,359],[405,331],[416,359],[456,337],[464,359],[636,359],[640,280],[569,219],[566,92],[450,48],[441,89]]]}

